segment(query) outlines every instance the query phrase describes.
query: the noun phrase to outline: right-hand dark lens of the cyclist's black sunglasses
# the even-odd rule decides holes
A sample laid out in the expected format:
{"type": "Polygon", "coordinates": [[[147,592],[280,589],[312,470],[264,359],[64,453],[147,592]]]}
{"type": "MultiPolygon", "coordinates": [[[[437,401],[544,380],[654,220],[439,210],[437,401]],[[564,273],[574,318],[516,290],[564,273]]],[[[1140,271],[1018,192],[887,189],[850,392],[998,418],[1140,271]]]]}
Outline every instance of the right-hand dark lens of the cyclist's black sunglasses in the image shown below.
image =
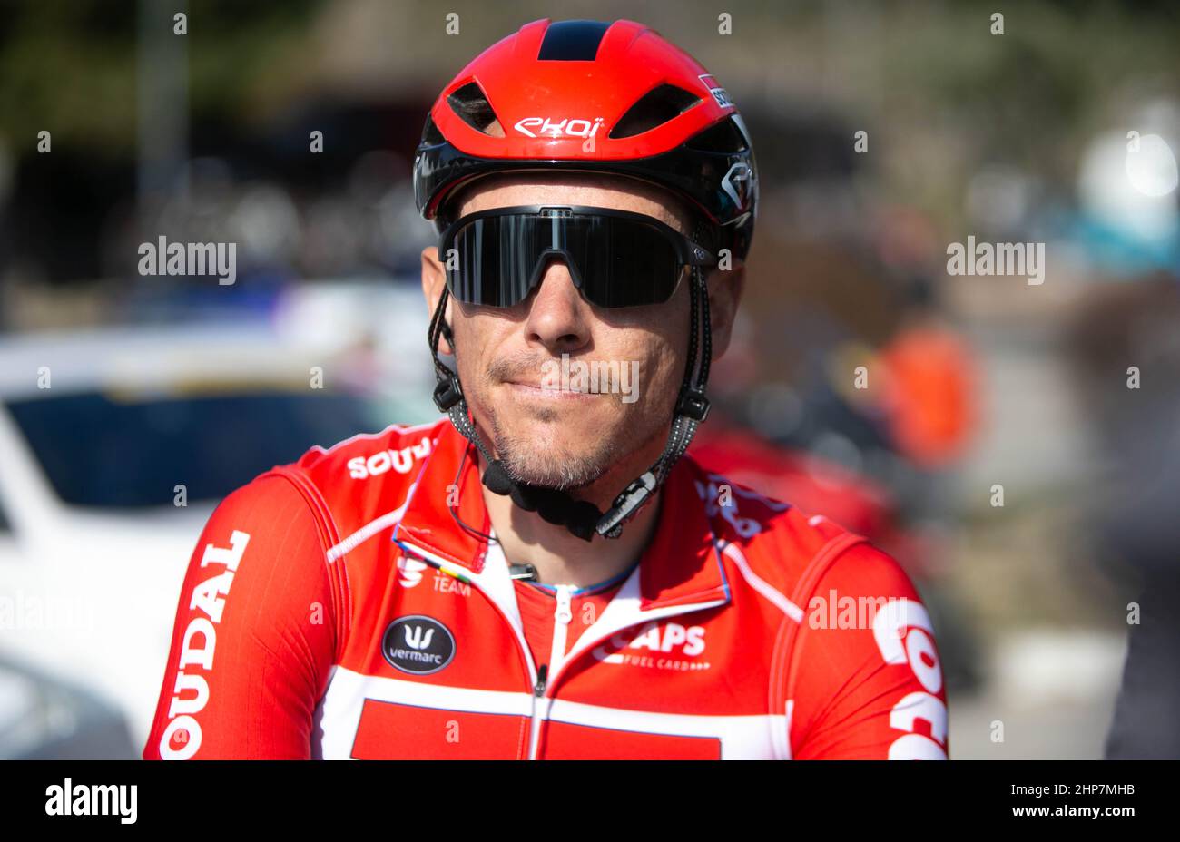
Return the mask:
{"type": "Polygon", "coordinates": [[[660,304],[676,289],[676,248],[654,225],[618,217],[578,217],[570,241],[582,275],[582,292],[591,304],[660,304]]]}

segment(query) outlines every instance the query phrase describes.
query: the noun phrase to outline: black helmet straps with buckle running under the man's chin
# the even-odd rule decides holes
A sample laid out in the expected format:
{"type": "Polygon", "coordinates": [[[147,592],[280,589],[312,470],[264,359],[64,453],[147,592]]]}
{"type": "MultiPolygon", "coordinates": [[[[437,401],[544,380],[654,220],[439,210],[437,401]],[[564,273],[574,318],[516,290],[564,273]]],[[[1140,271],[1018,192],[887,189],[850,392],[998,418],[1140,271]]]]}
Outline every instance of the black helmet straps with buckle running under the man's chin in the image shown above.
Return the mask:
{"type": "Polygon", "coordinates": [[[688,449],[697,425],[709,414],[709,401],[704,396],[704,387],[709,380],[709,357],[713,354],[709,329],[709,295],[704,283],[704,272],[700,267],[691,268],[690,277],[688,360],[684,364],[684,379],[676,400],[676,410],[668,441],[660,458],[615,496],[611,507],[605,513],[599,512],[594,504],[586,500],[576,500],[563,491],[519,482],[509,474],[504,462],[492,458],[476,432],[476,426],[467,409],[467,401],[463,396],[459,375],[444,366],[438,356],[439,337],[446,336],[447,341],[452,342],[451,329],[444,318],[450,291],[446,287],[442,288],[442,295],[439,296],[439,303],[431,317],[431,327],[427,333],[431,356],[434,360],[434,374],[438,379],[434,387],[434,404],[450,416],[454,428],[483,454],[487,462],[483,482],[489,491],[511,498],[512,502],[526,512],[536,512],[546,522],[564,526],[584,541],[589,541],[596,533],[603,538],[618,538],[623,533],[624,524],[655,498],[656,489],[668,479],[671,466],[688,449]],[[699,350],[701,351],[701,361],[697,371],[699,350]],[[695,383],[694,373],[696,373],[695,383]]]}

